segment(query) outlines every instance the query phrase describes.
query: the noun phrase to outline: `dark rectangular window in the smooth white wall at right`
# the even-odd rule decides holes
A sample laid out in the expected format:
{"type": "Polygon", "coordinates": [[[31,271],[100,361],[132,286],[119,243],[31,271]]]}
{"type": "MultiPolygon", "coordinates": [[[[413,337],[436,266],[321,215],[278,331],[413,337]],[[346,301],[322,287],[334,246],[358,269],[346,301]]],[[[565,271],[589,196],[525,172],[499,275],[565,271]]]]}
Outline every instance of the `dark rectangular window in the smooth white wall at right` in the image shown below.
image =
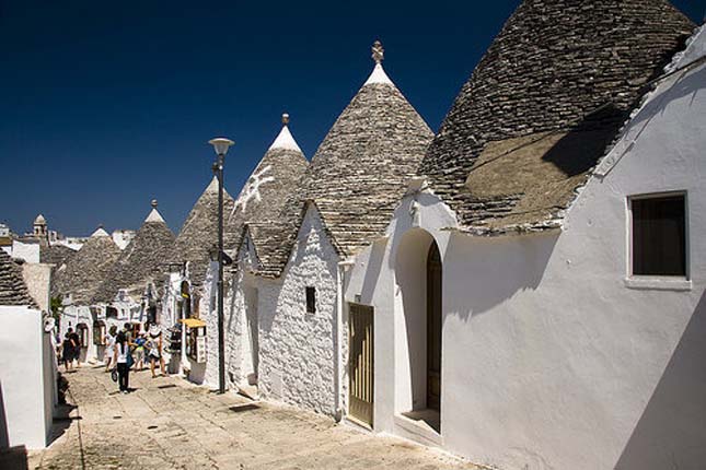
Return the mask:
{"type": "Polygon", "coordinates": [[[686,277],[684,195],[630,199],[633,275],[686,277]]]}

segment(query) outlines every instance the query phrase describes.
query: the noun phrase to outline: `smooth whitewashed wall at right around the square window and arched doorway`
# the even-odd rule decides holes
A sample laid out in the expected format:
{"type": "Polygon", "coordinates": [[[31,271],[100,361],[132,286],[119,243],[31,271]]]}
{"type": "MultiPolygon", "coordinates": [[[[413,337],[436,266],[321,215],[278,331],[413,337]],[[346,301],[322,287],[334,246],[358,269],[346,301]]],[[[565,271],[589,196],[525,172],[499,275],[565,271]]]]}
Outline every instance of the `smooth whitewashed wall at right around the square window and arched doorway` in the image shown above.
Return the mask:
{"type": "MultiPolygon", "coordinates": [[[[449,232],[448,209],[419,196],[419,225],[443,260],[445,448],[507,469],[703,468],[705,87],[703,64],[660,85],[605,160],[615,166],[590,180],[560,233],[449,232]],[[628,287],[626,198],[674,190],[687,191],[691,283],[628,287]]],[[[382,259],[374,246],[359,257],[347,290],[349,301],[359,294],[375,306],[381,432],[403,433],[394,414],[409,404],[395,273],[413,232],[409,210],[406,198],[382,259]]]]}

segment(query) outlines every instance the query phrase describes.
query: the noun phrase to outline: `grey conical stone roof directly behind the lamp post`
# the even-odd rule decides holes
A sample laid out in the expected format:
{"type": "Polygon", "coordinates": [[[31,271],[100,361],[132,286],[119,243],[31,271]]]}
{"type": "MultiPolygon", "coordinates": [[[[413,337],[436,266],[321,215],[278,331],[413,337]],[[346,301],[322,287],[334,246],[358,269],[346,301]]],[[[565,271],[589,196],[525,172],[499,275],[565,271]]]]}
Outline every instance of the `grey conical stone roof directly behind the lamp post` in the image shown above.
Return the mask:
{"type": "MultiPolygon", "coordinates": [[[[233,212],[233,198],[223,189],[223,216],[233,212]]],[[[230,230],[223,233],[223,245],[234,246],[236,235],[230,230]]],[[[174,242],[172,259],[187,262],[193,285],[199,286],[206,278],[209,251],[218,246],[218,179],[213,177],[189,212],[174,242]]]]}

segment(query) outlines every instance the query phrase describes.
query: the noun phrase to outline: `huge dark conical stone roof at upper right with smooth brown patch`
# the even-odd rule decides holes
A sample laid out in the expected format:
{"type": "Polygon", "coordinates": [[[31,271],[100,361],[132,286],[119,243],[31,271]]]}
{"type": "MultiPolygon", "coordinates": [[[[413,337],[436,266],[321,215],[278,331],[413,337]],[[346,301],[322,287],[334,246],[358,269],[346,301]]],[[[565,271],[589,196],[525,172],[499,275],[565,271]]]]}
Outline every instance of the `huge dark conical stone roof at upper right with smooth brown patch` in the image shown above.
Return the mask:
{"type": "Polygon", "coordinates": [[[556,226],[693,23],[666,0],[525,0],[420,168],[477,233],[556,226]]]}

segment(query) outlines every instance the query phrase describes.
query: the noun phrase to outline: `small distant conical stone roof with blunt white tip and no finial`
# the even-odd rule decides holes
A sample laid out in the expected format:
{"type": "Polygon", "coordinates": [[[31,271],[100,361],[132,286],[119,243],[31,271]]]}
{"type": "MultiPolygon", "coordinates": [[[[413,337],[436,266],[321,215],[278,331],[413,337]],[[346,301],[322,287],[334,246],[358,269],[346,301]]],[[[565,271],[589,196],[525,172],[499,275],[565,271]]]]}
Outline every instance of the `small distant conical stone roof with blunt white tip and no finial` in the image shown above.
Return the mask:
{"type": "Polygon", "coordinates": [[[120,248],[111,235],[100,227],[81,249],[68,259],[63,268],[57,271],[56,294],[71,294],[74,304],[90,305],[119,256],[120,248]]]}

